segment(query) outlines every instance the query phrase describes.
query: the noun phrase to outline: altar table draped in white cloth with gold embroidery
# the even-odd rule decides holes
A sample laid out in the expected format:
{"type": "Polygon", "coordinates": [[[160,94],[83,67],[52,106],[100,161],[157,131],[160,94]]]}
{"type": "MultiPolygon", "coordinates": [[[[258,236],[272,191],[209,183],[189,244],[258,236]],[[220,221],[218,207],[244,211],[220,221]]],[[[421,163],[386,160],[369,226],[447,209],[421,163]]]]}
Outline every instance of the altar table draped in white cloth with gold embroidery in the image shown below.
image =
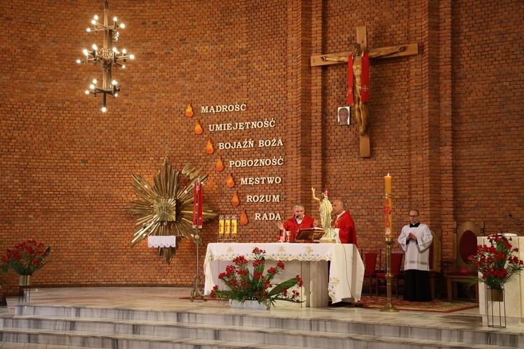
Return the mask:
{"type": "Polygon", "coordinates": [[[279,275],[282,279],[300,275],[304,281],[300,290],[302,306],[328,306],[328,298],[333,303],[361,299],[364,263],[353,244],[208,244],[204,261],[204,295],[210,295],[214,285],[223,287],[218,276],[233,264],[234,258],[244,255],[247,260],[252,260],[254,247],[265,250],[268,265],[270,261],[285,262],[285,269],[279,275]]]}

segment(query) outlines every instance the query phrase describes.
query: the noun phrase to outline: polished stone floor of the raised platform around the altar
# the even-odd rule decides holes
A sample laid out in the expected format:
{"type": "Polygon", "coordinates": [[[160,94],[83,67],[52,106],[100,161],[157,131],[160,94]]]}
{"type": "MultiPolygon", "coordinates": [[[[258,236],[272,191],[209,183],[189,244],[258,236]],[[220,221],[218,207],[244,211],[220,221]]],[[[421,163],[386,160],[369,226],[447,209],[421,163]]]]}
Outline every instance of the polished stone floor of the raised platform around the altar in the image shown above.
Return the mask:
{"type": "MultiPolygon", "coordinates": [[[[32,304],[54,304],[62,306],[95,306],[103,308],[177,310],[198,313],[229,313],[228,304],[210,300],[195,299],[190,302],[191,288],[43,288],[31,290],[32,304]]],[[[8,311],[14,311],[16,297],[8,298],[8,311]]],[[[393,299],[393,305],[395,300],[393,299]]],[[[479,309],[455,313],[433,313],[420,311],[399,311],[383,313],[377,309],[365,308],[300,308],[297,306],[272,307],[271,315],[283,318],[314,318],[358,320],[374,324],[418,325],[428,328],[476,329],[482,332],[524,333],[524,326],[508,326],[492,329],[481,322],[479,309]]],[[[24,343],[1,343],[1,349],[74,349],[80,347],[38,345],[24,343]]]]}

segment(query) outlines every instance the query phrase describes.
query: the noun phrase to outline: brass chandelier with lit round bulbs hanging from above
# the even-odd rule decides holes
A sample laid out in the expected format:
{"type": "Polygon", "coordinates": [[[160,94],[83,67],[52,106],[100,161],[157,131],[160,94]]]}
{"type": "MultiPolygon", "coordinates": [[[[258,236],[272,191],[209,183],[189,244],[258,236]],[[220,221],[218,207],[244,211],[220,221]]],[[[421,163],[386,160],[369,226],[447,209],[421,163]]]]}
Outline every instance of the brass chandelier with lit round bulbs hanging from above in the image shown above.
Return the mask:
{"type": "Polygon", "coordinates": [[[107,111],[106,107],[106,96],[117,97],[120,91],[120,85],[117,80],[111,80],[111,71],[113,68],[126,68],[126,60],[134,59],[133,54],[127,54],[126,50],[119,51],[117,47],[113,46],[113,42],[118,40],[119,32],[118,29],[124,29],[124,23],[117,22],[117,17],[112,19],[113,23],[108,24],[109,16],[109,3],[105,0],[103,4],[103,24],[99,22],[99,16],[95,15],[91,21],[93,24],[92,28],[87,28],[88,32],[103,31],[103,47],[93,45],[91,50],[84,50],[85,59],[78,59],[76,62],[81,64],[93,63],[95,66],[102,68],[102,84],[93,80],[89,89],[85,91],[85,94],[96,94],[102,95],[102,112],[107,111]]]}

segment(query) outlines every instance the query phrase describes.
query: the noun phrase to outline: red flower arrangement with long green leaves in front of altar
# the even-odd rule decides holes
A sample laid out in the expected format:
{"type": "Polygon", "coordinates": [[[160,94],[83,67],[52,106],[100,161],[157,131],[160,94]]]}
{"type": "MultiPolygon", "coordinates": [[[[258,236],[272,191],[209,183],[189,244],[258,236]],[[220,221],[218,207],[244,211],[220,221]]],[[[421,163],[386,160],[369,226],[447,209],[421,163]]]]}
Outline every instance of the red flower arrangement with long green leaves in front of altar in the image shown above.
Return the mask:
{"type": "Polygon", "coordinates": [[[211,298],[228,299],[233,308],[241,308],[245,303],[254,302],[269,309],[277,300],[300,303],[300,292],[289,290],[295,286],[302,287],[300,276],[272,285],[273,278],[284,270],[284,263],[279,260],[276,267],[270,267],[264,274],[265,251],[255,247],[252,253],[253,272],[249,271],[245,256],[238,256],[233,260],[235,265],[228,265],[226,272],[219,274],[219,280],[226,285],[226,290],[219,290],[219,286],[214,285],[211,298]]]}

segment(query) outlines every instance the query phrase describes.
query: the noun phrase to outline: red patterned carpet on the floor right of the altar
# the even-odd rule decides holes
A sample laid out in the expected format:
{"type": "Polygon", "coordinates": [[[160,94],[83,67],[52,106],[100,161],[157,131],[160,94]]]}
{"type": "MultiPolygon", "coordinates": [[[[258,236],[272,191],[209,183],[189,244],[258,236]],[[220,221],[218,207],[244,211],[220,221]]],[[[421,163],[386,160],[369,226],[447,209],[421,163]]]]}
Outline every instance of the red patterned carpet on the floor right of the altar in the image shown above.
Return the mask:
{"type": "MultiPolygon", "coordinates": [[[[382,309],[388,303],[386,297],[366,297],[363,296],[361,301],[356,304],[350,304],[342,302],[342,304],[335,303],[332,306],[345,306],[345,307],[361,307],[370,309],[382,309]]],[[[409,310],[409,311],[432,311],[436,313],[453,313],[454,311],[461,311],[466,309],[478,308],[479,304],[472,302],[444,302],[439,299],[435,299],[432,302],[407,302],[404,299],[396,299],[393,297],[391,300],[393,306],[398,310],[409,310]]]]}

